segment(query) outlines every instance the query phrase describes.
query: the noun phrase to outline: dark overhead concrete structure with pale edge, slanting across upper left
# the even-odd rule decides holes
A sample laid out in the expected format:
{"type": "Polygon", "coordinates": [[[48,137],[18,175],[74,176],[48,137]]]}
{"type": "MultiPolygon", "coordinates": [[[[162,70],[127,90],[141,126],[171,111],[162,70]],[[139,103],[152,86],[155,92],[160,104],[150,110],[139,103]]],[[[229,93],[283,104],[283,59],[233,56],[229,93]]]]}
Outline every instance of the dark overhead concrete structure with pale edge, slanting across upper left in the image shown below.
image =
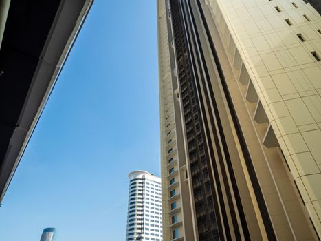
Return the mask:
{"type": "Polygon", "coordinates": [[[92,3],[10,2],[0,49],[0,202],[92,3]]]}

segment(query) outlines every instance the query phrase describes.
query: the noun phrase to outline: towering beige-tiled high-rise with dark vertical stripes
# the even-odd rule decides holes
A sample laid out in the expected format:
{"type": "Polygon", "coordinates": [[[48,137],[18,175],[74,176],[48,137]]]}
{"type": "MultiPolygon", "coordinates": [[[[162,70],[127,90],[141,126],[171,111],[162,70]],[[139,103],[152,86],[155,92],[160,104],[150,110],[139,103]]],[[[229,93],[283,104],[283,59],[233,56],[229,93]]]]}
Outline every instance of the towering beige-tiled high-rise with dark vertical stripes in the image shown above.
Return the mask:
{"type": "Polygon", "coordinates": [[[157,0],[164,240],[321,238],[321,17],[157,0]]]}

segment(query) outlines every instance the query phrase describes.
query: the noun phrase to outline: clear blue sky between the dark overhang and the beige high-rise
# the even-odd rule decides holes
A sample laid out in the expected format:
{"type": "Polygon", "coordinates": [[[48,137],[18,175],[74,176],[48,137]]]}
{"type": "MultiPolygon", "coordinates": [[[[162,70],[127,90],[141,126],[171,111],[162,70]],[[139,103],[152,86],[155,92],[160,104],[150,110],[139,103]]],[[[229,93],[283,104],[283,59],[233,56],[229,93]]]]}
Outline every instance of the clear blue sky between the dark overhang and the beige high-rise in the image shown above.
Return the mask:
{"type": "Polygon", "coordinates": [[[124,240],[129,180],[159,176],[156,1],[96,0],[0,207],[0,240],[124,240]]]}

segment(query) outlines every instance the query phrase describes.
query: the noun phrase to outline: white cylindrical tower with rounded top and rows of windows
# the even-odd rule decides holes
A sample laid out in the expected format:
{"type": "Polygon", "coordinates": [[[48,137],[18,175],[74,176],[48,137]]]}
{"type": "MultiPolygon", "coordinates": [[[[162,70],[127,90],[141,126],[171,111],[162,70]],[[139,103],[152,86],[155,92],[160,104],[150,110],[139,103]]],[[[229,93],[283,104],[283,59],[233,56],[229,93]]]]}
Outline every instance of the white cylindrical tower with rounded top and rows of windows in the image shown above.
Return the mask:
{"type": "Polygon", "coordinates": [[[129,174],[126,241],[162,241],[162,186],[159,177],[147,171],[129,174]]]}

